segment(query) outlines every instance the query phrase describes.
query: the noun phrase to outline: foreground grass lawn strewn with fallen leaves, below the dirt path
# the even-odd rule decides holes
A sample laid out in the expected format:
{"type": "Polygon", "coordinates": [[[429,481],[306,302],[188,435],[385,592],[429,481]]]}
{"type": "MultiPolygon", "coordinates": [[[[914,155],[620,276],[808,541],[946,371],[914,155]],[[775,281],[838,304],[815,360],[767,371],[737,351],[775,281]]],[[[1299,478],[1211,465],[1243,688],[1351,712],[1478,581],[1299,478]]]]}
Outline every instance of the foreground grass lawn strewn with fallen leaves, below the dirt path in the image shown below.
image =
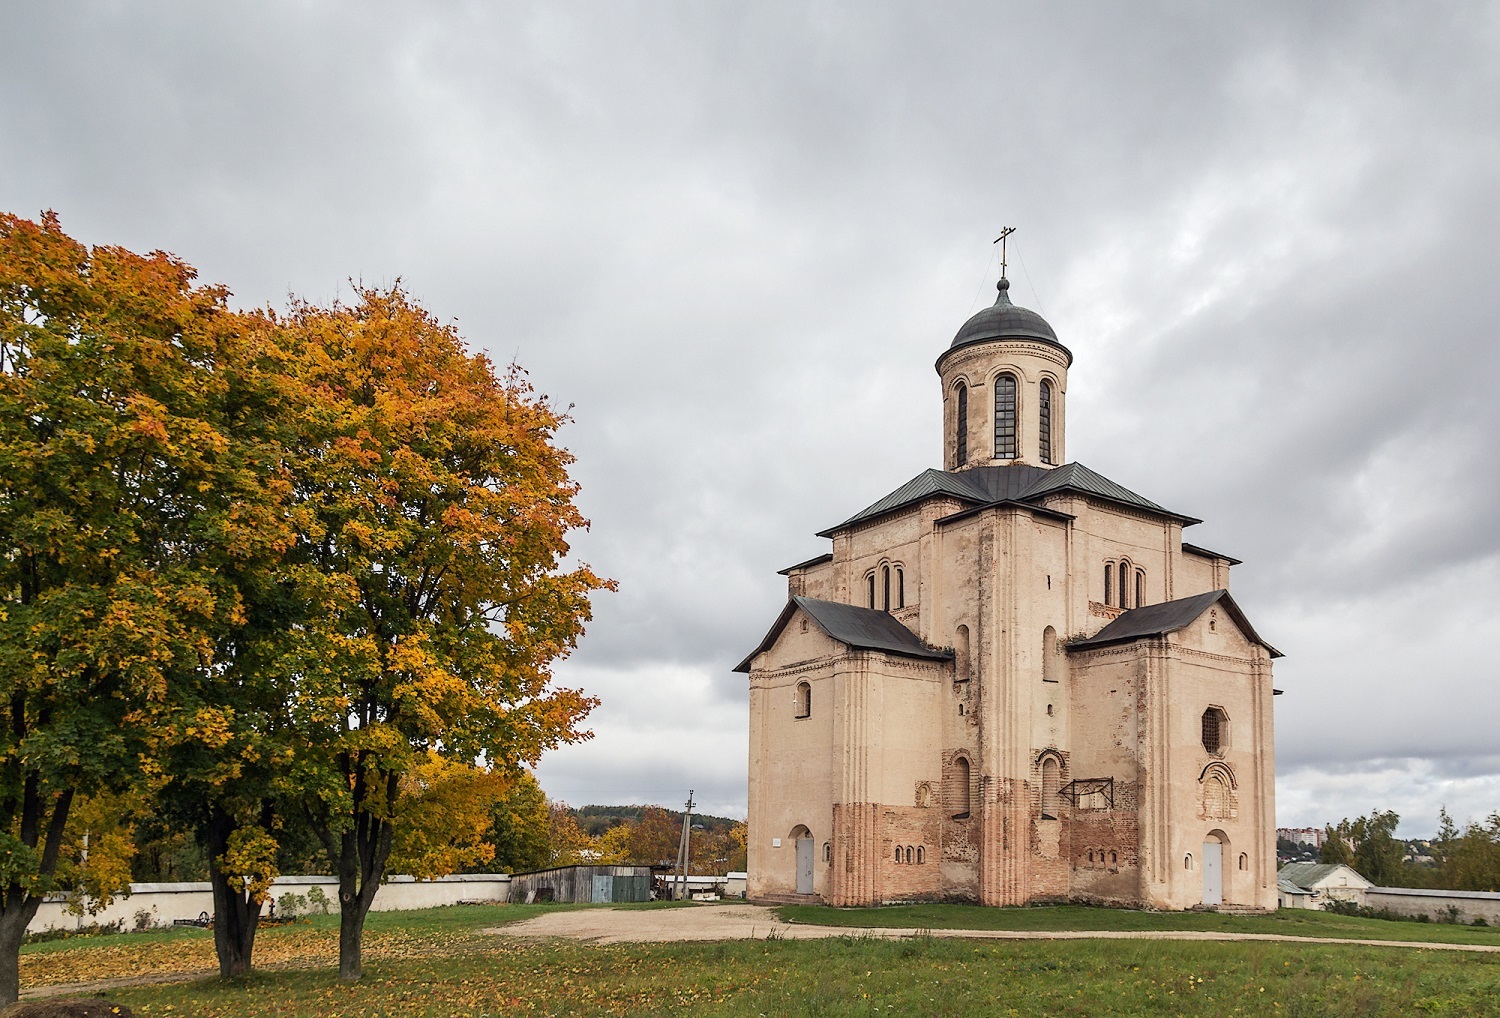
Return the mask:
{"type": "MultiPolygon", "coordinates": [[[[338,981],[336,916],[327,916],[262,931],[256,940],[258,960],[264,952],[264,960],[285,966],[282,969],[264,969],[230,984],[202,979],[140,985],[111,990],[106,996],[150,1018],[1500,1017],[1500,955],[1488,954],[1346,945],[878,940],[860,936],[813,942],[598,946],[480,933],[566,907],[570,906],[460,906],[372,913],[364,981],[352,987],[338,981]]],[[[862,916],[861,925],[873,925],[870,912],[843,915],[862,916]]],[[[1194,916],[1198,918],[1212,916],[1194,916]]],[[[1416,927],[1366,922],[1372,924],[1370,934],[1383,939],[1390,939],[1386,927],[1416,927]]],[[[1083,919],[1071,925],[1077,928],[1083,919]]],[[[1452,927],[1437,930],[1456,933],[1452,927]]],[[[86,961],[100,952],[126,963],[124,972],[96,978],[129,975],[130,952],[165,951],[182,963],[189,949],[207,948],[204,957],[212,961],[212,939],[206,931],[81,939],[36,945],[28,954],[40,948],[50,951],[36,960],[39,963],[60,964],[66,955],[86,961]],[[122,951],[126,954],[118,954],[122,951]]]]}

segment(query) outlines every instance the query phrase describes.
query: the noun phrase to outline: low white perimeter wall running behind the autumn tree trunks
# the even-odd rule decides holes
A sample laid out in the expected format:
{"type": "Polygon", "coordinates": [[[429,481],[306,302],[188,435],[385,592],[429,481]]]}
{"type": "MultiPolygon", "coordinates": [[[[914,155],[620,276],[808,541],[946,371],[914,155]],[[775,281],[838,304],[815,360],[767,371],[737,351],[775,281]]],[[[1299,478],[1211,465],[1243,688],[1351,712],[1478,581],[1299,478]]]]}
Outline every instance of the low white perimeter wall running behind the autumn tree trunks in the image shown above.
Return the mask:
{"type": "MultiPolygon", "coordinates": [[[[339,912],[339,882],[336,877],[278,877],[272,885],[272,898],[284,894],[306,897],[309,888],[322,888],[328,897],[328,912],[339,912]]],[[[372,912],[398,912],[405,909],[434,909],[456,906],[465,901],[508,901],[510,874],[504,873],[459,873],[436,880],[416,877],[387,877],[375,894],[372,912]]],[[[152,913],[158,927],[172,925],[172,919],[196,919],[201,913],[213,915],[213,892],[208,883],[132,883],[129,897],[116,898],[108,909],[96,916],[74,916],[66,912],[62,898],[48,900],[36,910],[36,919],[28,933],[76,927],[80,922],[124,921],[126,930],[135,928],[135,913],[152,913]]],[[[267,904],[262,915],[270,912],[267,904]]]]}

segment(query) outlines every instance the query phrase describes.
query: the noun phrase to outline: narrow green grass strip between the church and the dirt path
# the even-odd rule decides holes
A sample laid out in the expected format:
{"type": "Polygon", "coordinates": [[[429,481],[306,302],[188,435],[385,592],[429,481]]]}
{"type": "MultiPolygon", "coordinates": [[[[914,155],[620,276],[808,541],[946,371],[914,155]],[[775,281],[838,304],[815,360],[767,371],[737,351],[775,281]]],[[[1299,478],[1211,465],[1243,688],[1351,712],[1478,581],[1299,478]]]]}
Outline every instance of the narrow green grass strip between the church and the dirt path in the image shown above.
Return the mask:
{"type": "Polygon", "coordinates": [[[782,906],[786,922],[819,927],[882,927],[910,930],[1204,930],[1214,933],[1274,933],[1292,937],[1354,937],[1359,940],[1414,940],[1428,943],[1482,943],[1500,946],[1497,927],[1455,927],[1432,922],[1356,919],[1311,909],[1282,909],[1268,916],[1226,916],[1216,912],[1131,912],[1048,906],[984,909],[958,904],[832,909],[782,906]]]}

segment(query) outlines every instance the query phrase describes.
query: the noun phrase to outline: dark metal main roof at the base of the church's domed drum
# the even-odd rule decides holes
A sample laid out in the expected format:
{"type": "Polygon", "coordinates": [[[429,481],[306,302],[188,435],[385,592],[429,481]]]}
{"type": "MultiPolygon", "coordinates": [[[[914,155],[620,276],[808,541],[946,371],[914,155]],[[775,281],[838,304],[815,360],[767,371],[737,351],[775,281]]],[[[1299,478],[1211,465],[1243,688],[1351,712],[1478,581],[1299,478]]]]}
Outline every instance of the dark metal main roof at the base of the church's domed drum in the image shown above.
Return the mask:
{"type": "Polygon", "coordinates": [[[970,507],[978,507],[999,502],[1038,502],[1046,495],[1060,492],[1092,495],[1120,505],[1172,517],[1185,526],[1203,522],[1192,516],[1182,516],[1180,513],[1162,508],[1124,484],[1116,484],[1102,474],[1090,471],[1083,463],[1065,463],[1053,468],[1016,463],[1011,466],[970,466],[963,471],[922,471],[838,526],[819,531],[818,537],[832,537],[836,531],[842,531],[846,526],[894,513],[933,495],[948,495],[968,502],[970,507]]]}

